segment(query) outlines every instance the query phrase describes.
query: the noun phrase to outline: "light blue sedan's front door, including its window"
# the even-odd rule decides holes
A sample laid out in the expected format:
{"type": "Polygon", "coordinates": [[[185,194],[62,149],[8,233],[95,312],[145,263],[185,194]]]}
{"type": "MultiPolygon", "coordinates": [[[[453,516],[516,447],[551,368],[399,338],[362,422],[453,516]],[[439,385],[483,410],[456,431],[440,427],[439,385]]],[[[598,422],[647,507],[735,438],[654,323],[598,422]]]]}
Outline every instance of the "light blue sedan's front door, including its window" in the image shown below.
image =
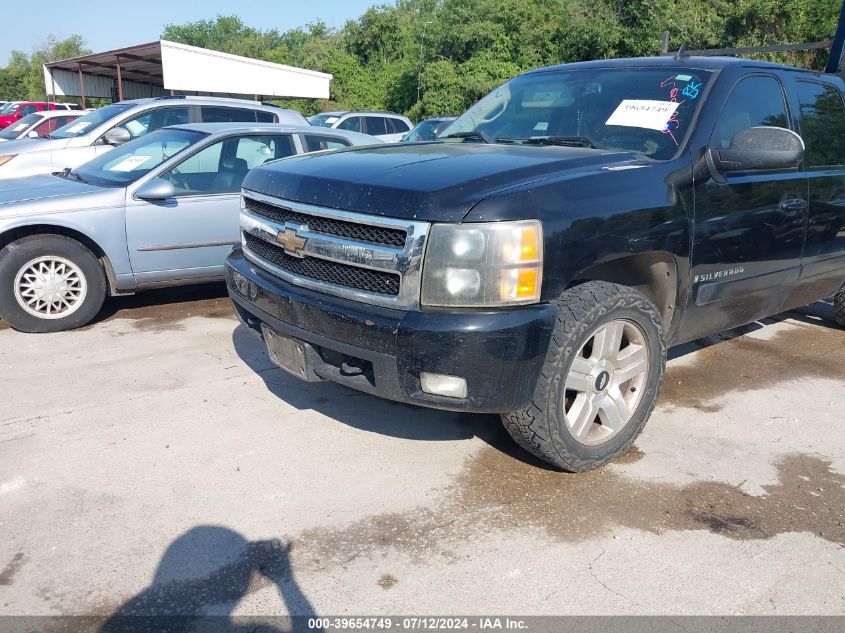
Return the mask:
{"type": "Polygon", "coordinates": [[[238,241],[247,172],[295,153],[289,134],[229,136],[160,174],[172,185],[172,198],[129,196],[126,239],[138,283],[222,278],[223,260],[238,241]]]}

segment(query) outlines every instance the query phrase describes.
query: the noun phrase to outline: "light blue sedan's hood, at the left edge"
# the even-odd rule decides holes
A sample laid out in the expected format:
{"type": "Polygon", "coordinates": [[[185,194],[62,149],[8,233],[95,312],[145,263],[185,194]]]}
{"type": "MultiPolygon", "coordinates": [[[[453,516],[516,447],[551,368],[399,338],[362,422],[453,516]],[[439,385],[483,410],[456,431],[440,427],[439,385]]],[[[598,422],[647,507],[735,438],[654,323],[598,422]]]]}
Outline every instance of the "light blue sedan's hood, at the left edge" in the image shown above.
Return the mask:
{"type": "Polygon", "coordinates": [[[73,210],[79,208],[82,199],[88,206],[93,202],[92,196],[109,191],[52,174],[0,180],[0,217],[19,215],[22,205],[27,211],[38,213],[73,210]]]}

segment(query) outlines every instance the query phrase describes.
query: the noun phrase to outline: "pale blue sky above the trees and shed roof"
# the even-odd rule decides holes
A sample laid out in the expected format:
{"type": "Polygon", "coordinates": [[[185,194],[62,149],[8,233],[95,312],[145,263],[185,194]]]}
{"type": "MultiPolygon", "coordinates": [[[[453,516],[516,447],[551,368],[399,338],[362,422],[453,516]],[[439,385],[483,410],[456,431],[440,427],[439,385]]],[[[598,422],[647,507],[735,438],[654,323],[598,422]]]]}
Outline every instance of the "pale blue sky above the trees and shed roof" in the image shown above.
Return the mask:
{"type": "Polygon", "coordinates": [[[238,15],[244,23],[260,29],[286,31],[322,19],[341,27],[373,4],[389,0],[87,0],[50,2],[44,9],[24,9],[0,23],[0,66],[9,53],[29,53],[52,34],[63,39],[81,35],[88,48],[104,51],[157,40],[165,24],[183,24],[216,15],[238,15]]]}

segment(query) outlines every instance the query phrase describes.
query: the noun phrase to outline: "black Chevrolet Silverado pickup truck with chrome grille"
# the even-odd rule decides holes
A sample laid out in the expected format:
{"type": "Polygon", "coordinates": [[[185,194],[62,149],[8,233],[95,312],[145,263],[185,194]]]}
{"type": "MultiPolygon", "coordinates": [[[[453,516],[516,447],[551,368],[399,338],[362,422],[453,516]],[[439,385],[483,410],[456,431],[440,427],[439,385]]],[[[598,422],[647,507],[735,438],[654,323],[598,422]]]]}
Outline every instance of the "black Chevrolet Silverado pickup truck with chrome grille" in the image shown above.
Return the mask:
{"type": "Polygon", "coordinates": [[[595,468],[668,347],[835,293],[845,324],[843,88],[714,57],[520,75],[438,141],[251,171],[229,293],[304,380],[500,413],[595,468]]]}

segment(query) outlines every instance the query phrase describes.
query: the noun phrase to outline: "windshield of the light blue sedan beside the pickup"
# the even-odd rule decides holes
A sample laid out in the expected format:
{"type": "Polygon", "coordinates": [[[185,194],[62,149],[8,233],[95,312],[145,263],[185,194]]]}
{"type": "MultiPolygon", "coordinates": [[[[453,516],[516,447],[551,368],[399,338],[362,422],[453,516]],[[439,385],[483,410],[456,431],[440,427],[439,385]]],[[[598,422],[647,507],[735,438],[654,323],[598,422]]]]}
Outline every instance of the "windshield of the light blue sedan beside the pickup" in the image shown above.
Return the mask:
{"type": "Polygon", "coordinates": [[[156,130],[61,175],[100,187],[125,187],[206,136],[175,128],[156,130]]]}

